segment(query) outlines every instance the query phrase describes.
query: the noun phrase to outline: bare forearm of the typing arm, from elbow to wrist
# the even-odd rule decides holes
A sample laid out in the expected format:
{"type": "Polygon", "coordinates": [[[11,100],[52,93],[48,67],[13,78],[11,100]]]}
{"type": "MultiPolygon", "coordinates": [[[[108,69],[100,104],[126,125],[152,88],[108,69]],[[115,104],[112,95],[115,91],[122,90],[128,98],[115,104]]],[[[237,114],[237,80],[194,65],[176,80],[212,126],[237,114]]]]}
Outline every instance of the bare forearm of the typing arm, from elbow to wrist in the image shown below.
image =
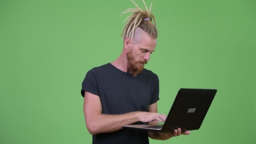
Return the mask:
{"type": "Polygon", "coordinates": [[[122,115],[96,114],[85,117],[86,126],[91,134],[109,133],[122,129],[123,125],[130,125],[139,121],[138,112],[122,115]]]}

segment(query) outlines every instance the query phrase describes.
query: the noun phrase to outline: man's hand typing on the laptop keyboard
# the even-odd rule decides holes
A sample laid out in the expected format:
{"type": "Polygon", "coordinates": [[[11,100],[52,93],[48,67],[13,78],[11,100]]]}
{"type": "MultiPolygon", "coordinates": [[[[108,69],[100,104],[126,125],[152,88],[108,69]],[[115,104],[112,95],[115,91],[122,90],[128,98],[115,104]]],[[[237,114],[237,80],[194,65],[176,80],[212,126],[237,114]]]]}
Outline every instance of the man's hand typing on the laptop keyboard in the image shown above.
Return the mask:
{"type": "Polygon", "coordinates": [[[164,122],[166,120],[166,115],[158,114],[156,112],[138,112],[137,117],[139,121],[147,123],[157,120],[159,122],[164,122]]]}

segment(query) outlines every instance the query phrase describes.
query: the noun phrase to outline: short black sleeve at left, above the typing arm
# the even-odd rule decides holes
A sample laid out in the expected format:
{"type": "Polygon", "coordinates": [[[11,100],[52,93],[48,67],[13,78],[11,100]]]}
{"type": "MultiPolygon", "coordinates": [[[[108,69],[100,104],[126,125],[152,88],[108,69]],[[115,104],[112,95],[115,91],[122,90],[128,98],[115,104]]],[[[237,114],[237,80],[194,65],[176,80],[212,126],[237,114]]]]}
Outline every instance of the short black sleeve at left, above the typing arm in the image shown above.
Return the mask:
{"type": "Polygon", "coordinates": [[[96,80],[96,71],[94,69],[89,70],[83,80],[81,89],[81,95],[83,97],[85,95],[85,91],[99,96],[99,86],[96,80]]]}

